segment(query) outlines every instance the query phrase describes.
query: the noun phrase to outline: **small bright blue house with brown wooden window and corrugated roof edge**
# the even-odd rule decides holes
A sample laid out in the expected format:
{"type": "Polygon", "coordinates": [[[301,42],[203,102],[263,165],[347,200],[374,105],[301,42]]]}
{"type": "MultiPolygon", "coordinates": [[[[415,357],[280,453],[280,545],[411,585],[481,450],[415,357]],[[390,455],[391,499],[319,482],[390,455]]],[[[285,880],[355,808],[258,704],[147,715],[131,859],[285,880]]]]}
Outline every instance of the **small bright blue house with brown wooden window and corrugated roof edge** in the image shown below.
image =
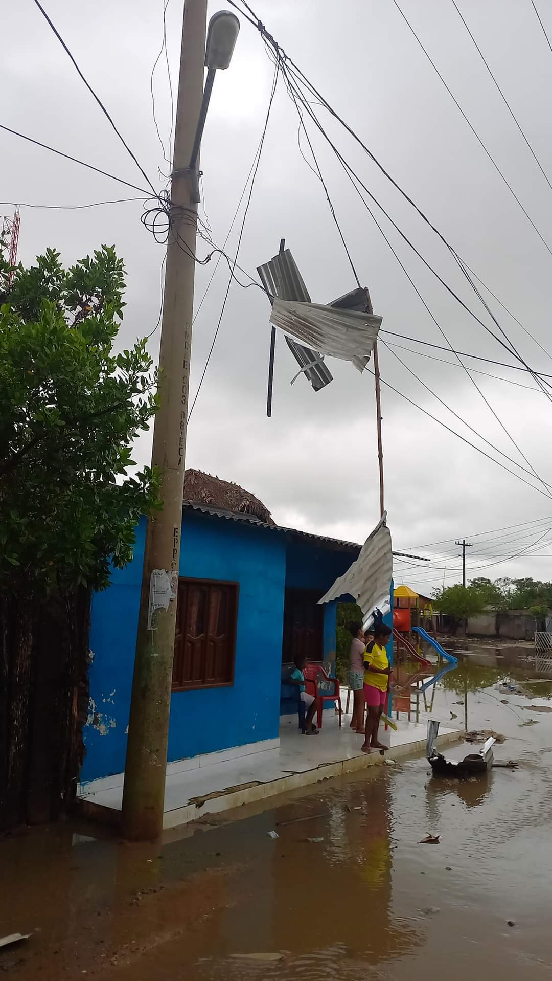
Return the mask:
{"type": "MultiPolygon", "coordinates": [[[[186,479],[190,473],[198,472],[186,479]]],[[[230,489],[232,506],[252,510],[217,506],[211,501],[221,494],[212,492],[183,503],[170,762],[276,748],[282,664],[301,650],[332,665],[336,602],[317,603],[360,551],[281,528],[246,491],[217,487],[230,489]]],[[[193,490],[187,480],[184,492],[193,490]]],[[[132,561],[93,598],[82,783],[125,768],[144,541],[142,521],[132,561]]]]}

